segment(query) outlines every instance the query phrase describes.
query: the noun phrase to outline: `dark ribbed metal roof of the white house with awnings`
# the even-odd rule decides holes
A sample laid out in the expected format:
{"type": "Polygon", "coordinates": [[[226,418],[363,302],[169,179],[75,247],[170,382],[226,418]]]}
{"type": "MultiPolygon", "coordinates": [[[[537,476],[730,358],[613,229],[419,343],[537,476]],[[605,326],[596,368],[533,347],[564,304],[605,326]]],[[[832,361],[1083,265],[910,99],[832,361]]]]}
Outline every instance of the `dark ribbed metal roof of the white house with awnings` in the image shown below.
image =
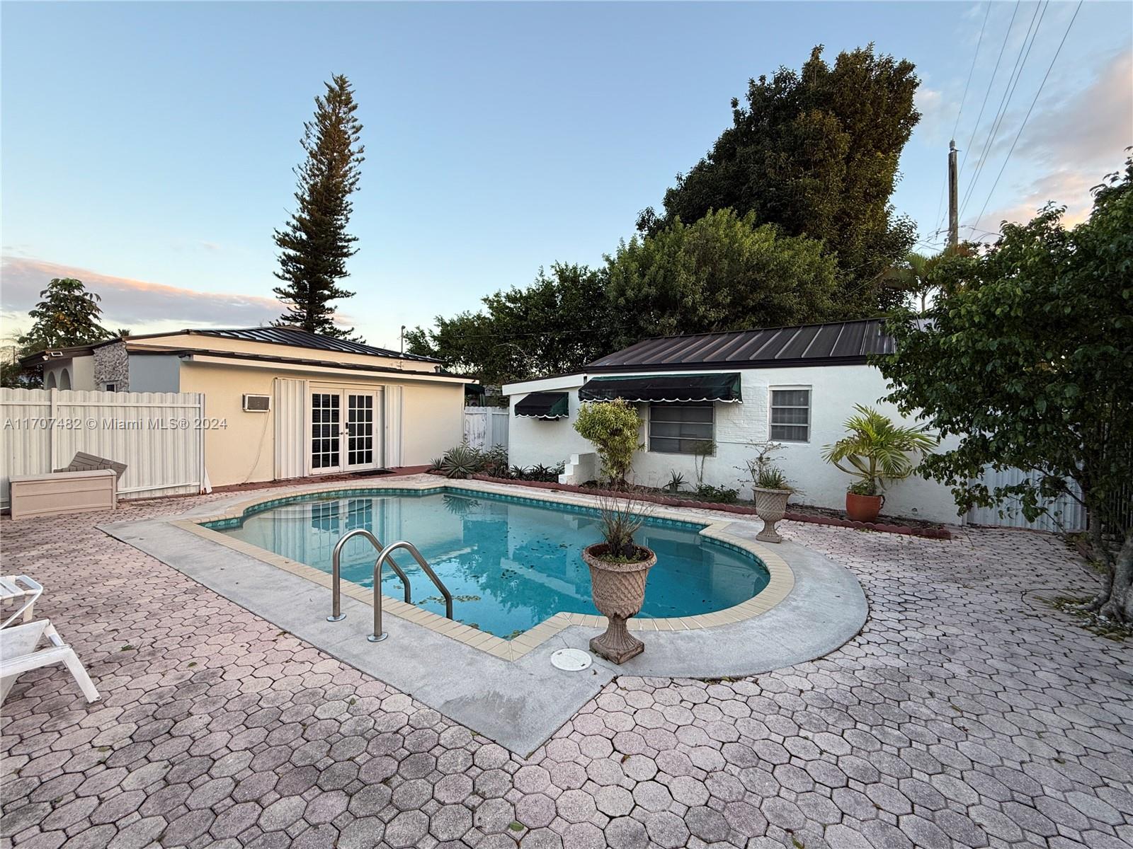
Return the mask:
{"type": "Polygon", "coordinates": [[[884,319],[868,318],[647,338],[595,360],[586,370],[857,365],[876,353],[893,353],[893,337],[885,333],[884,319]]]}

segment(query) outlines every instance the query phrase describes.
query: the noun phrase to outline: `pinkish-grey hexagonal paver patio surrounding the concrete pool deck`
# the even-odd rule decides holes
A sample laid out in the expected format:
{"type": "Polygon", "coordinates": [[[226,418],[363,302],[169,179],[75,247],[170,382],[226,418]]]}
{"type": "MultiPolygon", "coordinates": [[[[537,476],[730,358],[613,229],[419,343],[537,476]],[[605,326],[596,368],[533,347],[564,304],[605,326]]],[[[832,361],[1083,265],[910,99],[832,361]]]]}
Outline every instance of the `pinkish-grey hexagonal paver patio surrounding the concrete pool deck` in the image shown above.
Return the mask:
{"type": "Polygon", "coordinates": [[[199,500],[0,525],[103,694],[19,679],[5,846],[1133,846],[1133,652],[1037,600],[1090,585],[1057,539],[783,523],[858,575],[858,637],[619,678],[525,760],[94,528],[199,500]]]}

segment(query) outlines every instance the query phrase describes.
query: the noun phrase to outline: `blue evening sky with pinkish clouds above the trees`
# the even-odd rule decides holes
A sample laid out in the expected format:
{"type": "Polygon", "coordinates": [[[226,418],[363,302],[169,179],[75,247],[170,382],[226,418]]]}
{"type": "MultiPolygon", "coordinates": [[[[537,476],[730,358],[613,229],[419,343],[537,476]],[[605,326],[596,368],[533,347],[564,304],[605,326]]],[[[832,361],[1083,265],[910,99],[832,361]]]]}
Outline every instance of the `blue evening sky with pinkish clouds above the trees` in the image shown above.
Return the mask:
{"type": "Polygon", "coordinates": [[[600,264],[748,79],[816,44],[917,65],[893,204],[921,250],[953,135],[964,238],[1047,200],[1082,220],[1133,144],[1127,2],[3,2],[0,27],[5,337],[57,276],[133,333],[278,317],[272,232],[332,74],[366,146],[340,320],[394,349],[540,266],[600,264]]]}

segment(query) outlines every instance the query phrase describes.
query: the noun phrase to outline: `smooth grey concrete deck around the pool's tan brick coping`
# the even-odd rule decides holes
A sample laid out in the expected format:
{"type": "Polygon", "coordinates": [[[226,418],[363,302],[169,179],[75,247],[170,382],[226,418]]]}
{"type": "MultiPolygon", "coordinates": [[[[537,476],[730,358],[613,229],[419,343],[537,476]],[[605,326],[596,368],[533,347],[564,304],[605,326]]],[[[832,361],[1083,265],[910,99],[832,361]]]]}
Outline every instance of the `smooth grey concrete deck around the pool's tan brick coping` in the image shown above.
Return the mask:
{"type": "MultiPolygon", "coordinates": [[[[404,482],[391,484],[402,488],[404,482]]],[[[436,486],[435,480],[431,482],[436,486]]],[[[469,488],[506,489],[480,483],[469,488]]],[[[272,497],[318,489],[276,491],[272,497]]],[[[579,503],[577,498],[570,497],[570,503],[579,503]]],[[[327,623],[330,592],[325,586],[203,539],[182,524],[245,500],[213,501],[180,516],[108,523],[100,529],[518,754],[536,749],[615,676],[724,678],[766,672],[837,649],[858,634],[868,614],[864,593],[849,569],[784,542],[778,554],[790,564],[793,585],[782,601],[733,624],[641,634],[645,653],[621,667],[600,658],[594,658],[591,668],[582,672],[551,664],[550,655],[557,649],[587,648],[600,631],[588,625],[568,625],[514,660],[399,616],[385,617],[390,638],[374,644],[366,640],[373,619],[368,603],[344,592],[347,618],[327,623]]],[[[704,511],[680,513],[690,521],[718,522],[718,516],[704,511]]],[[[761,528],[758,520],[722,524],[729,535],[741,540],[753,540],[761,528]]]]}

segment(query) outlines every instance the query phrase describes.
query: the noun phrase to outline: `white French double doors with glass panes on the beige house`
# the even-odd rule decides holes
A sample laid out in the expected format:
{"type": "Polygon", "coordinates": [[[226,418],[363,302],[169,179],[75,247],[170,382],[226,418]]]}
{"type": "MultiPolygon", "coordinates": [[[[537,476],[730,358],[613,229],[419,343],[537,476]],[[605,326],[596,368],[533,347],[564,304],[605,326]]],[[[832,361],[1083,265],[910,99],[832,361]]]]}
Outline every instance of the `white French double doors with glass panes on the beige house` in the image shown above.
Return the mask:
{"type": "Polygon", "coordinates": [[[377,469],[382,464],[381,389],[310,393],[310,471],[377,469]]]}

